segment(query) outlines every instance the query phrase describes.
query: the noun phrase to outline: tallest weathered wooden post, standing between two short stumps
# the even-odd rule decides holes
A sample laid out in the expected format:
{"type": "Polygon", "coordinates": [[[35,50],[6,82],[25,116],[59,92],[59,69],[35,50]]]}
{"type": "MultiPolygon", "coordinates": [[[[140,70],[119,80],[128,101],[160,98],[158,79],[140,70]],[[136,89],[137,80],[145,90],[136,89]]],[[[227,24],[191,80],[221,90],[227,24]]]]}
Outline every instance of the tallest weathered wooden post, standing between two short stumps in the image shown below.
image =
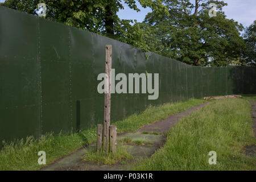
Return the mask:
{"type": "Polygon", "coordinates": [[[104,124],[103,124],[103,149],[109,151],[109,125],[110,125],[110,101],[111,101],[111,67],[112,46],[105,46],[105,94],[104,94],[104,124]]]}

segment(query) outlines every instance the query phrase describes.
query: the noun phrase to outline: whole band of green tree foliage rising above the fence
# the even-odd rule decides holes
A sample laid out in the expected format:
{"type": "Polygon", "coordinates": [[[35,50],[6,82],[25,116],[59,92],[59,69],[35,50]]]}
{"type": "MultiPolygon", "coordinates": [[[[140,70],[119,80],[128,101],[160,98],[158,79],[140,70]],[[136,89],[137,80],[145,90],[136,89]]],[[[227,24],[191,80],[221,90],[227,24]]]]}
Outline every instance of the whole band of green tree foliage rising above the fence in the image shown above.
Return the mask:
{"type": "MultiPolygon", "coordinates": [[[[3,5],[36,15],[40,2],[46,3],[49,20],[109,36],[187,64],[255,63],[255,22],[247,28],[243,39],[242,24],[227,19],[222,11],[227,5],[224,1],[138,0],[142,7],[152,10],[142,23],[119,19],[121,0],[7,0],[3,5]],[[210,3],[216,4],[217,16],[209,16],[210,3]]],[[[123,2],[140,11],[135,0],[123,2]]]]}

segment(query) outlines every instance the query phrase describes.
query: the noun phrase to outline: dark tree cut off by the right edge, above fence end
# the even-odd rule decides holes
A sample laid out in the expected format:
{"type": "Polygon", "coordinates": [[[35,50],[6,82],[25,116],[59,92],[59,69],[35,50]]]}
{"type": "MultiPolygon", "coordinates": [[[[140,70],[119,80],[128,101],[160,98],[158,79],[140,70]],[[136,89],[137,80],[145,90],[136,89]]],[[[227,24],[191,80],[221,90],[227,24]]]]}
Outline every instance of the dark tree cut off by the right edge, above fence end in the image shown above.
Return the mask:
{"type": "Polygon", "coordinates": [[[247,64],[256,66],[256,20],[246,28],[243,38],[246,43],[245,55],[243,57],[247,64]]]}

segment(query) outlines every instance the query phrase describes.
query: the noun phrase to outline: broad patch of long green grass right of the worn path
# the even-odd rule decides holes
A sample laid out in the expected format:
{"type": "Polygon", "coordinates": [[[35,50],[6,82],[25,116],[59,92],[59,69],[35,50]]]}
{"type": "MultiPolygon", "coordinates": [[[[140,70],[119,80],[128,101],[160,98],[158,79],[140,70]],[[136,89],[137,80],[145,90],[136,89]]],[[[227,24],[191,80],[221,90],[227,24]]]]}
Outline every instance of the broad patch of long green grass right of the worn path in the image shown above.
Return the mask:
{"type": "Polygon", "coordinates": [[[177,123],[168,131],[166,144],[133,169],[255,170],[256,159],[244,154],[244,146],[256,144],[252,123],[248,101],[210,102],[177,123]],[[217,152],[216,165],[208,163],[209,151],[217,152]]]}

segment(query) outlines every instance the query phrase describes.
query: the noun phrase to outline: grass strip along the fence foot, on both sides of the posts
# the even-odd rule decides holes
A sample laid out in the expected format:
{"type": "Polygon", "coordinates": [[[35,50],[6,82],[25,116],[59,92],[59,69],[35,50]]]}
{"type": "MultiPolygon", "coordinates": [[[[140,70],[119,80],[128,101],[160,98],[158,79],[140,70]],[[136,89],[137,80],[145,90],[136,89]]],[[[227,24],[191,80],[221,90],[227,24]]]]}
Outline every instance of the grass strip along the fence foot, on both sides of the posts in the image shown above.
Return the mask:
{"type": "MultiPolygon", "coordinates": [[[[150,106],[141,114],[133,114],[123,121],[115,122],[118,133],[135,131],[140,127],[164,119],[168,115],[187,110],[189,107],[199,105],[204,100],[188,100],[174,104],[150,106]]],[[[96,128],[72,134],[46,134],[39,139],[28,137],[25,140],[5,143],[0,151],[0,170],[35,170],[43,165],[38,164],[38,152],[46,152],[46,163],[68,155],[71,152],[96,140],[96,128]]]]}

